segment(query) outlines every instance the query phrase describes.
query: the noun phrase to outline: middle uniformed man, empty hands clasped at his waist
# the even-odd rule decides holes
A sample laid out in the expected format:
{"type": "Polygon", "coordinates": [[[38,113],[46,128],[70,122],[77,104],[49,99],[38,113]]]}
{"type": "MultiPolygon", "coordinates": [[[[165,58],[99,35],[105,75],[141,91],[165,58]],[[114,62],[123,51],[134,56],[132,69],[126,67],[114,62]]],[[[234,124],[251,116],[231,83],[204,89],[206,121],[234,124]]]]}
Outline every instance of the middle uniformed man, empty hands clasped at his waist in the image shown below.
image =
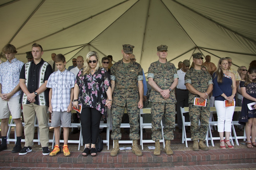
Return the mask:
{"type": "Polygon", "coordinates": [[[152,140],[155,141],[154,155],[160,155],[160,143],[162,139],[161,120],[165,117],[166,128],[164,129],[165,148],[167,155],[172,155],[170,140],[174,139],[175,130],[175,94],[174,88],[178,84],[177,69],[173,63],[167,62],[167,46],[157,47],[158,61],[150,64],[148,68],[148,84],[152,91],[149,101],[152,102],[152,140]]]}

